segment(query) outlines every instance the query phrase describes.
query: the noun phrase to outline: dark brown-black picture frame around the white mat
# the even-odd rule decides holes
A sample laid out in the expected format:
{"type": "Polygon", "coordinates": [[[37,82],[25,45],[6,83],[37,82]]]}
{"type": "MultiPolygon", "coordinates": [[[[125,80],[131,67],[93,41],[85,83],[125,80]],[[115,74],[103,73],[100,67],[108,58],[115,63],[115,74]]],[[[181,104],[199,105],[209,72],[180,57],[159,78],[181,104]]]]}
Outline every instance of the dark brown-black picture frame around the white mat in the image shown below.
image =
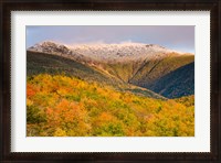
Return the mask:
{"type": "Polygon", "coordinates": [[[0,160],[2,162],[221,162],[221,1],[220,0],[3,0],[0,2],[0,160]],[[29,153],[11,146],[10,12],[33,10],[199,11],[211,13],[211,152],[199,153],[29,153]]]}

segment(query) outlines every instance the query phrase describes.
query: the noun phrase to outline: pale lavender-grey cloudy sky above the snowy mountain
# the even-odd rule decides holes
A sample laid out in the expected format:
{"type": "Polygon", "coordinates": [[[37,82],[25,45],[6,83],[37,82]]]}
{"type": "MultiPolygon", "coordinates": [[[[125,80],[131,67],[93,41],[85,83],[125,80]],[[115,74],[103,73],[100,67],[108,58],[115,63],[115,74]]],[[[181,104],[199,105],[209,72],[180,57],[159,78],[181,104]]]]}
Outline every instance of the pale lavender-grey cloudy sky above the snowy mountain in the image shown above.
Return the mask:
{"type": "Polygon", "coordinates": [[[73,25],[27,26],[27,47],[43,41],[64,44],[136,42],[158,44],[171,50],[194,53],[192,25],[73,25]]]}

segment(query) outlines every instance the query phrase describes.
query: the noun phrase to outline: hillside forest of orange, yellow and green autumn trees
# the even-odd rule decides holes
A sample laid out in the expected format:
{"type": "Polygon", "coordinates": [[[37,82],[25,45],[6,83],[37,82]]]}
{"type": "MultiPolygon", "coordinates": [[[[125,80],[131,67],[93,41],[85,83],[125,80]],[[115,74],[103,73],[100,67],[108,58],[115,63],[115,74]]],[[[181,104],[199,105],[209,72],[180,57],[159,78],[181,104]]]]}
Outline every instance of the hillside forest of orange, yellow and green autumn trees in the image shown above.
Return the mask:
{"type": "Polygon", "coordinates": [[[194,135],[192,101],[136,96],[63,75],[32,76],[27,88],[30,137],[194,135]]]}

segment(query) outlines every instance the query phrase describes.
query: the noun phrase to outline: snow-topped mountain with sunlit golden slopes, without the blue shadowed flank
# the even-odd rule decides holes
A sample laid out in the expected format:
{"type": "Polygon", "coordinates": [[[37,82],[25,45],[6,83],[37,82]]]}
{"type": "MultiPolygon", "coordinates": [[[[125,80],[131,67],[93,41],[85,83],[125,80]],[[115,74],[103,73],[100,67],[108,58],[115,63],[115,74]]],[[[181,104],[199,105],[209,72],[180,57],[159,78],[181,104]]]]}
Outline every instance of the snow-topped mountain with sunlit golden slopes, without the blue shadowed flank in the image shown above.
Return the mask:
{"type": "MultiPolygon", "coordinates": [[[[156,44],[141,43],[69,46],[45,41],[29,47],[28,52],[66,57],[116,77],[123,83],[147,89],[150,89],[167,74],[194,62],[193,54],[176,52],[156,44]]],[[[164,96],[167,97],[167,95],[164,96]]]]}

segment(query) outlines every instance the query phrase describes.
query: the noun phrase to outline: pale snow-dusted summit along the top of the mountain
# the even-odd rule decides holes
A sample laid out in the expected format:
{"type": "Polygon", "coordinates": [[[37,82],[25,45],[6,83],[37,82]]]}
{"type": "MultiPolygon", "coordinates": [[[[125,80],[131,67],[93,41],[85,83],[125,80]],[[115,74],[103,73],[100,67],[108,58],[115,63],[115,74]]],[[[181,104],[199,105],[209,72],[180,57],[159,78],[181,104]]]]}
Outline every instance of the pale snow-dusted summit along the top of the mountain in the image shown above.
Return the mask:
{"type": "Polygon", "coordinates": [[[75,44],[64,45],[45,41],[28,48],[28,51],[70,55],[70,57],[86,57],[94,62],[125,62],[134,59],[161,58],[168,54],[183,53],[156,44],[122,43],[122,44],[75,44]]]}

